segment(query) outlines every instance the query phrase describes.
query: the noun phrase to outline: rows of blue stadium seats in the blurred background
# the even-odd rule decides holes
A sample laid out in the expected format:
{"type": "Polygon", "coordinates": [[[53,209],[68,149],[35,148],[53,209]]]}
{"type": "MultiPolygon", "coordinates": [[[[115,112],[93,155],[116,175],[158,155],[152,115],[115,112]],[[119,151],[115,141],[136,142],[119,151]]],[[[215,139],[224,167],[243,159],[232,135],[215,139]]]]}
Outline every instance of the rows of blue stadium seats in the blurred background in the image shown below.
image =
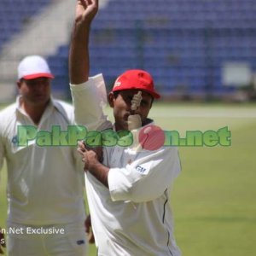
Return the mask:
{"type": "MultiPolygon", "coordinates": [[[[2,0],[0,47],[48,2],[2,0]],[[24,6],[24,15],[6,29],[4,16],[15,2],[24,6]]],[[[104,73],[111,86],[125,69],[144,68],[166,96],[230,93],[236,88],[222,84],[225,62],[246,61],[256,69],[255,11],[254,0],[111,0],[91,28],[90,74],[104,73]]],[[[61,45],[49,56],[55,86],[68,82],[67,55],[68,45],[61,45]]]]}

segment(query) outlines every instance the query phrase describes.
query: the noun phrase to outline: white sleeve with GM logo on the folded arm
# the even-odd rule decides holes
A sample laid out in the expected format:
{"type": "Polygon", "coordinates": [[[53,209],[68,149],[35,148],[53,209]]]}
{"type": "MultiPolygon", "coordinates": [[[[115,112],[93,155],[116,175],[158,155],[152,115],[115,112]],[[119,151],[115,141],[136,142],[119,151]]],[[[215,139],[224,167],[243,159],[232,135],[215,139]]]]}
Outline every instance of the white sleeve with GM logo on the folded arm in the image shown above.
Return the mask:
{"type": "Polygon", "coordinates": [[[111,198],[113,201],[152,201],[172,185],[180,171],[177,148],[150,152],[125,168],[110,168],[108,186],[111,198]]]}

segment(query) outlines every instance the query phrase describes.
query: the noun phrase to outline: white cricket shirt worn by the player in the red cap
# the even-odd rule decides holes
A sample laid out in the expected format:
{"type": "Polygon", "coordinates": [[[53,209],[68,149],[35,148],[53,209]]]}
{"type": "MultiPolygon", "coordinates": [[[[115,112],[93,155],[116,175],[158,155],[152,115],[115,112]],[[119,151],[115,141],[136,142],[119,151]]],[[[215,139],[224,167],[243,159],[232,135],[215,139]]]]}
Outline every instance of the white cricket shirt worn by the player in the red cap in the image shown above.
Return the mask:
{"type": "MultiPolygon", "coordinates": [[[[95,130],[109,128],[102,112],[106,103],[102,75],[71,84],[71,90],[76,122],[95,130]]],[[[109,189],[89,172],[85,177],[98,255],[180,255],[169,197],[172,181],[180,172],[177,148],[103,150],[103,164],[110,167],[109,189]]]]}

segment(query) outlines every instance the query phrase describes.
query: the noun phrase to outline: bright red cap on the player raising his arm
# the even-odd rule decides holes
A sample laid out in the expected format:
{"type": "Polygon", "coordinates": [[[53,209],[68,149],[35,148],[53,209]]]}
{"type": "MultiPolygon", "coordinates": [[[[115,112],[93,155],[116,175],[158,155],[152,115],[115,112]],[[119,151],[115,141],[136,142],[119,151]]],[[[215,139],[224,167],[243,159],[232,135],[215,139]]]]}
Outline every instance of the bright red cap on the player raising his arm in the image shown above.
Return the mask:
{"type": "Polygon", "coordinates": [[[158,99],[160,95],[154,90],[154,80],[148,72],[140,69],[131,69],[119,75],[113,84],[112,91],[144,90],[158,99]]]}

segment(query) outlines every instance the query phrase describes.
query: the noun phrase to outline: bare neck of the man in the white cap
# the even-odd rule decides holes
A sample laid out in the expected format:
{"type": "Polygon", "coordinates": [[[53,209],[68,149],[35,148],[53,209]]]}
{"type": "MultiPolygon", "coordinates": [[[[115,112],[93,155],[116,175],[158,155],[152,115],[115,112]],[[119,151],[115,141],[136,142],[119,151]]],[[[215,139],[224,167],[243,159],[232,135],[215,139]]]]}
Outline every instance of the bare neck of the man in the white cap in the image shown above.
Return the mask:
{"type": "Polygon", "coordinates": [[[30,104],[29,102],[22,101],[20,107],[28,114],[32,121],[38,125],[48,103],[49,102],[44,104],[30,104]]]}

